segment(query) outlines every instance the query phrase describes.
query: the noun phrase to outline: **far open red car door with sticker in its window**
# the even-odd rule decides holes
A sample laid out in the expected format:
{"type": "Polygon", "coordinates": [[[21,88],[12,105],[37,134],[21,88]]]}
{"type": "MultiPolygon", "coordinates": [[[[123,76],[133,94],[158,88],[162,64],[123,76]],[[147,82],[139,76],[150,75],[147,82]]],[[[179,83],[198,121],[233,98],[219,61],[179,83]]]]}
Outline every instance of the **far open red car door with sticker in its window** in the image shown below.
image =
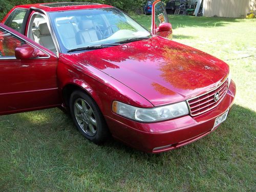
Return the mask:
{"type": "Polygon", "coordinates": [[[173,38],[172,25],[169,23],[164,4],[160,0],[155,1],[152,5],[151,32],[164,38],[173,38]]]}

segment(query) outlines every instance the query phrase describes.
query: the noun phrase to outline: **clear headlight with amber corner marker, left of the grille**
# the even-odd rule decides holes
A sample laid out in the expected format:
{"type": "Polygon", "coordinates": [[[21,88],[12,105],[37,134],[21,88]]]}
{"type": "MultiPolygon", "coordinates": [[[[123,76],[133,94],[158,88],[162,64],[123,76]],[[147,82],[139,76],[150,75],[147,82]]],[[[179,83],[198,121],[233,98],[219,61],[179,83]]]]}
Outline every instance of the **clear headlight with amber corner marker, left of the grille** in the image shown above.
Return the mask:
{"type": "Polygon", "coordinates": [[[112,111],[123,117],[140,122],[163,121],[189,113],[185,101],[150,109],[137,108],[136,106],[114,101],[112,111]]]}

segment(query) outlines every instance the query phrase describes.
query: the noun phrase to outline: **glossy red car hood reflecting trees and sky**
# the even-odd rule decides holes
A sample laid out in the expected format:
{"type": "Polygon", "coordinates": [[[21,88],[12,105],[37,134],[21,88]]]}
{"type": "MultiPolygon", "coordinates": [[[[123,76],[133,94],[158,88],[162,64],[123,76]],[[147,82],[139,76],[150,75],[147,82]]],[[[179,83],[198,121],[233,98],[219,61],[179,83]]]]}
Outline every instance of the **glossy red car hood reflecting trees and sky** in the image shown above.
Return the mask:
{"type": "Polygon", "coordinates": [[[154,106],[203,94],[229,73],[216,57],[161,37],[69,56],[122,82],[154,106]]]}

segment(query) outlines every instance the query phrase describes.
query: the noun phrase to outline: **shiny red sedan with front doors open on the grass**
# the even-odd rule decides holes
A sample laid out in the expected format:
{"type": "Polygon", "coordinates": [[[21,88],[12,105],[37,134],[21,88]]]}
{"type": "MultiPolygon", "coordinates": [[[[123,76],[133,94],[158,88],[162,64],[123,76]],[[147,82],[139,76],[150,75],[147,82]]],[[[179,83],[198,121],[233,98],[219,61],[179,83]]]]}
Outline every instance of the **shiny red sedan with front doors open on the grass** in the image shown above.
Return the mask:
{"type": "Polygon", "coordinates": [[[65,108],[87,139],[147,153],[211,133],[234,101],[229,67],[167,39],[160,1],[152,15],[150,33],[108,5],[14,7],[0,24],[0,115],[65,108]]]}

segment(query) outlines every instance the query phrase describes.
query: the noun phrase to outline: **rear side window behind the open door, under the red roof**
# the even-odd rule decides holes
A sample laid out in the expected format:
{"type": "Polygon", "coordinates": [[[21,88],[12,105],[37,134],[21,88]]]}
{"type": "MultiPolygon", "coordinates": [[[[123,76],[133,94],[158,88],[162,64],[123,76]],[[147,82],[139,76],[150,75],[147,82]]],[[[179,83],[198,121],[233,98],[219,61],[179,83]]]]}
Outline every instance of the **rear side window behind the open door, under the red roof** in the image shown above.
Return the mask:
{"type": "Polygon", "coordinates": [[[24,30],[25,16],[27,9],[15,9],[7,18],[5,25],[22,33],[24,30]]]}

